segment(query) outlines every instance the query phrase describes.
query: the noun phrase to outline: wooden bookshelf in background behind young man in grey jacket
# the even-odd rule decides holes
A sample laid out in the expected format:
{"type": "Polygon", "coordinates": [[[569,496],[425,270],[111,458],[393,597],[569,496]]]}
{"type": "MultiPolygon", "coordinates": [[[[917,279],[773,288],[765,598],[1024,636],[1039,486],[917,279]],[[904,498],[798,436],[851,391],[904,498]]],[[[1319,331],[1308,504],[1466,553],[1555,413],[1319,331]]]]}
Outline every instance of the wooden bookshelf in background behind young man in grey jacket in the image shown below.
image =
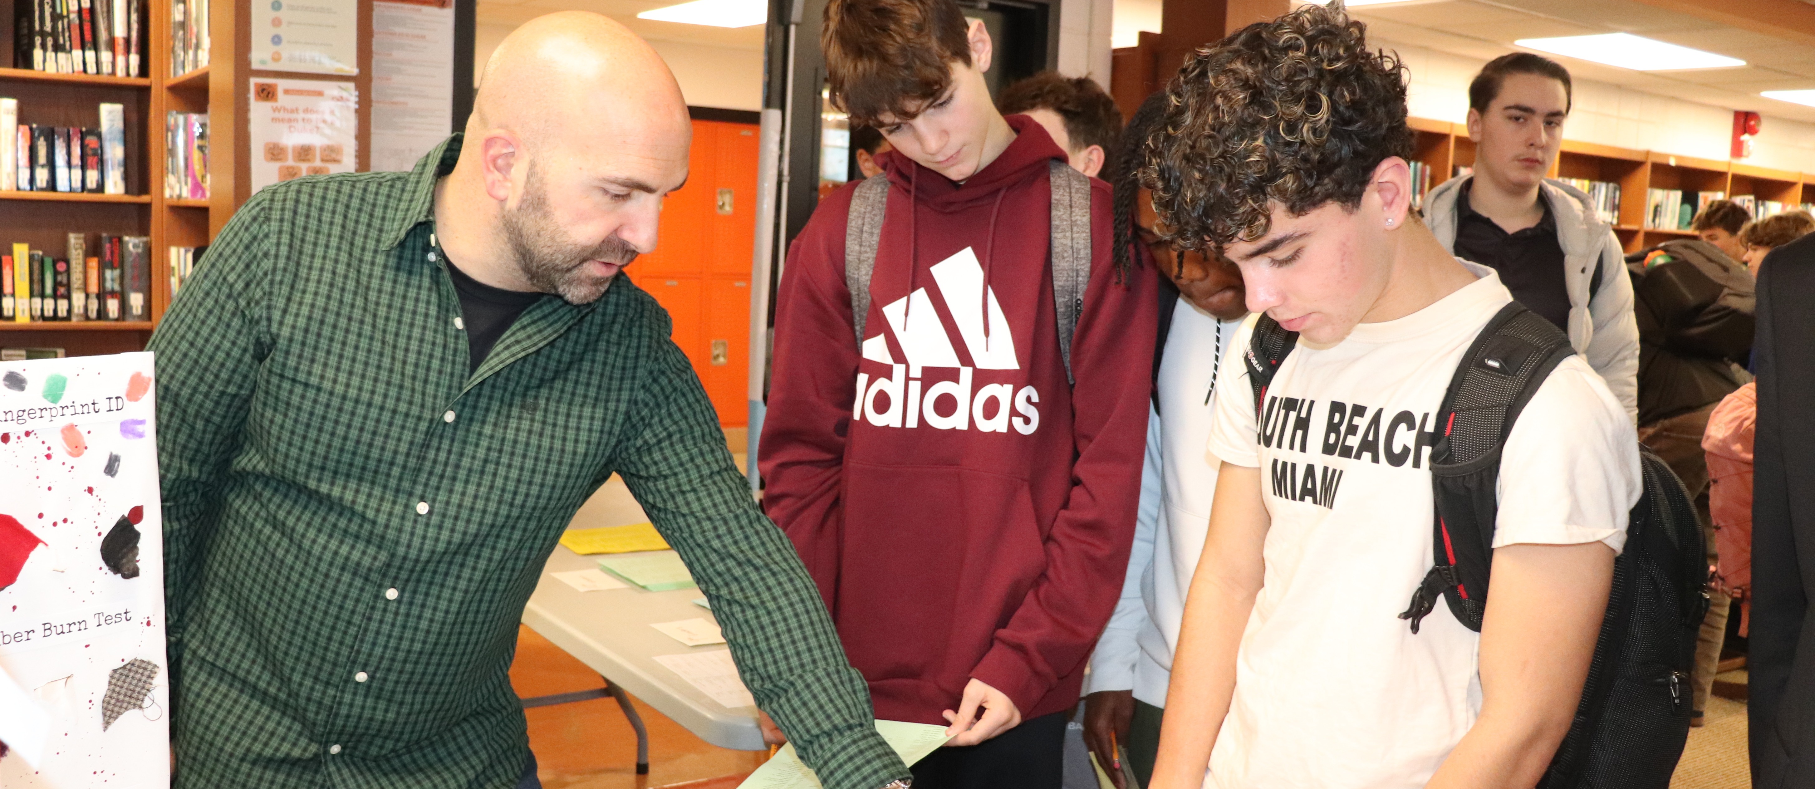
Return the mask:
{"type": "MultiPolygon", "coordinates": [[[[1468,127],[1428,118],[1408,118],[1416,134],[1412,158],[1430,167],[1432,189],[1456,176],[1456,167],[1474,167],[1476,145],[1468,127]]],[[[1644,227],[1646,192],[1681,189],[1724,192],[1728,198],[1750,194],[1779,203],[1815,203],[1815,172],[1775,170],[1744,161],[1702,160],[1661,151],[1565,140],[1550,178],[1586,178],[1619,183],[1619,219],[1614,232],[1626,252],[1677,239],[1695,238],[1693,230],[1644,227]]]]}

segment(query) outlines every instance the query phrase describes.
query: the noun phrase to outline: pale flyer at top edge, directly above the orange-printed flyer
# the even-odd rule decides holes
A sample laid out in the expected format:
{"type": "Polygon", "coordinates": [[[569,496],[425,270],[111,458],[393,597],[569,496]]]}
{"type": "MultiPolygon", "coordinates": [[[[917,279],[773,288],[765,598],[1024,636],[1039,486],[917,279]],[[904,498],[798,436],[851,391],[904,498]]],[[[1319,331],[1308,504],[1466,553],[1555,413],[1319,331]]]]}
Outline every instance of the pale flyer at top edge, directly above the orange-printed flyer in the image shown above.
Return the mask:
{"type": "Polygon", "coordinates": [[[252,0],[254,69],[359,73],[358,0],[252,0]]]}

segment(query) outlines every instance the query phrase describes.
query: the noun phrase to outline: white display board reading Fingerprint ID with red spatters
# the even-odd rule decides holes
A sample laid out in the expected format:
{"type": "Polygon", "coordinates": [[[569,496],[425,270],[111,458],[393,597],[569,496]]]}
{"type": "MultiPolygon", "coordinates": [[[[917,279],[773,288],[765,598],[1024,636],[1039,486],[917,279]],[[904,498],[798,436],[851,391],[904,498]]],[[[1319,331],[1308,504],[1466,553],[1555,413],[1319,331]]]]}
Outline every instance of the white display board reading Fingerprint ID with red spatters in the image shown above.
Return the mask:
{"type": "Polygon", "coordinates": [[[0,363],[0,756],[7,789],[165,789],[152,356],[0,363]],[[47,724],[47,726],[45,726],[47,724]]]}

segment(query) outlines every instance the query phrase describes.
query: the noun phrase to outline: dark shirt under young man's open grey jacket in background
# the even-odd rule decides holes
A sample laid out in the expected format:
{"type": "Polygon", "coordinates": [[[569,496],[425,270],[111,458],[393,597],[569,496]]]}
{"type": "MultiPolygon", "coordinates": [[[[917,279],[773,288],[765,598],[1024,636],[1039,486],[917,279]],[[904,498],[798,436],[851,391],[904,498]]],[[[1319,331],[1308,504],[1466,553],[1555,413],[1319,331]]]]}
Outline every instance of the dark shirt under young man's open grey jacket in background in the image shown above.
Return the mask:
{"type": "Polygon", "coordinates": [[[1539,192],[1537,203],[1545,207],[1545,218],[1525,230],[1506,232],[1468,205],[1472,187],[1472,180],[1463,183],[1456,196],[1456,256],[1499,272],[1501,285],[1512,290],[1514,299],[1568,332],[1570,288],[1550,203],[1539,192]]]}

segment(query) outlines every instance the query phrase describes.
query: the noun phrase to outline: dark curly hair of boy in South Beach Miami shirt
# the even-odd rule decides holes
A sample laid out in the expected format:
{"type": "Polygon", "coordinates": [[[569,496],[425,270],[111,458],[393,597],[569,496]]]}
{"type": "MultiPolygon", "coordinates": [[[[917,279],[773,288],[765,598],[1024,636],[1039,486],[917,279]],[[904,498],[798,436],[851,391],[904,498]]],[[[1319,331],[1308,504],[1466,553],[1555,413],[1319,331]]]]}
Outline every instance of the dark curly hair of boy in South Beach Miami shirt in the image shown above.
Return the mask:
{"type": "Polygon", "coordinates": [[[1339,4],[1301,5],[1198,47],[1167,85],[1142,185],[1174,248],[1221,250],[1292,216],[1361,205],[1374,167],[1412,156],[1405,65],[1339,4]]]}

